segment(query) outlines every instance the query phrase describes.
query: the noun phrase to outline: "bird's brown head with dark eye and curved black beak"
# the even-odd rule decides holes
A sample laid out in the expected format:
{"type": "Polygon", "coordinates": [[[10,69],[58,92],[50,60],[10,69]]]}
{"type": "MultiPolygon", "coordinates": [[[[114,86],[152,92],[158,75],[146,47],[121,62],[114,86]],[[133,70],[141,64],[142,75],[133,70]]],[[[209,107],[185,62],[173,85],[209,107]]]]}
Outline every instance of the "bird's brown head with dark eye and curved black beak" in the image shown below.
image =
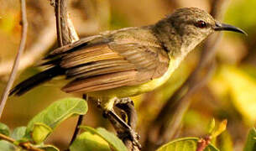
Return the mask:
{"type": "Polygon", "coordinates": [[[175,13],[167,17],[167,21],[180,35],[185,47],[195,47],[209,34],[216,31],[228,30],[246,34],[242,29],[217,22],[209,13],[200,8],[176,9],[175,13]]]}

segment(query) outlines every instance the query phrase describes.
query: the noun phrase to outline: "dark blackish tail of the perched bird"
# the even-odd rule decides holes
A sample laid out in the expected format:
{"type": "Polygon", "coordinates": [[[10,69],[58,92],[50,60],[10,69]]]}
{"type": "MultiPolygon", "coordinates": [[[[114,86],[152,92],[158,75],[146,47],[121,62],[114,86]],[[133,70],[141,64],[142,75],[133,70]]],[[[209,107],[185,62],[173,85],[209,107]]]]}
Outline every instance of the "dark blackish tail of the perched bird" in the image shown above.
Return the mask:
{"type": "Polygon", "coordinates": [[[33,89],[35,86],[39,86],[46,81],[50,81],[55,76],[60,76],[64,73],[65,70],[60,66],[51,67],[48,70],[44,70],[34,76],[29,77],[27,80],[22,81],[17,86],[13,87],[9,95],[21,96],[27,91],[33,89]]]}

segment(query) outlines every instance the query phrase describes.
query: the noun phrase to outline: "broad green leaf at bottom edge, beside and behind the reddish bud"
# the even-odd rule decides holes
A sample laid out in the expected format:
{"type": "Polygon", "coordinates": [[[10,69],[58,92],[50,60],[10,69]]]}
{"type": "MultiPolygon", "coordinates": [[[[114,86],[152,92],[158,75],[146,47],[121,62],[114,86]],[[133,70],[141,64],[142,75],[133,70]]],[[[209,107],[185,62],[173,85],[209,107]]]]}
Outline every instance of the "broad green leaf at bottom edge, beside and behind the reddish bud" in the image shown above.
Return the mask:
{"type": "MultiPolygon", "coordinates": [[[[170,143],[166,143],[157,151],[196,151],[199,138],[179,138],[170,143]]],[[[212,144],[209,144],[204,151],[219,151],[212,144]]]]}

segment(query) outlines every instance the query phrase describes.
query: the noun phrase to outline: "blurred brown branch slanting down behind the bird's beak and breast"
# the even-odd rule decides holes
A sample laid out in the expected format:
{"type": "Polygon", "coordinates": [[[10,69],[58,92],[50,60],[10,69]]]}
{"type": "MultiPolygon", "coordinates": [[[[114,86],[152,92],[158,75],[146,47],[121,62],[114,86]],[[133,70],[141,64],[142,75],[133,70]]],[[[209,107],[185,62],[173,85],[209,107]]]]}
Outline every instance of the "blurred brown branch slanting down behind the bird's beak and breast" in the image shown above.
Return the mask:
{"type": "MultiPolygon", "coordinates": [[[[212,1],[212,11],[211,14],[214,18],[221,20],[222,14],[226,10],[227,0],[216,0],[212,1]]],[[[212,70],[213,63],[216,54],[216,47],[221,39],[222,34],[213,34],[208,39],[201,51],[201,58],[193,71],[191,76],[185,81],[185,83],[180,86],[180,88],[175,91],[174,95],[166,102],[165,106],[159,112],[158,117],[155,118],[154,122],[148,129],[148,140],[145,146],[151,148],[156,147],[160,144],[168,142],[171,138],[175,137],[175,133],[180,128],[180,122],[190,107],[191,96],[195,94],[202,86],[206,84],[209,80],[211,72],[207,72],[204,76],[201,76],[202,70],[212,70]],[[185,95],[183,95],[185,93],[185,95]],[[179,98],[182,96],[181,98],[179,98]],[[172,117],[170,118],[170,115],[172,117]],[[158,137],[152,138],[152,129],[158,130],[158,137]],[[158,140],[158,141],[156,141],[158,140]]]]}

